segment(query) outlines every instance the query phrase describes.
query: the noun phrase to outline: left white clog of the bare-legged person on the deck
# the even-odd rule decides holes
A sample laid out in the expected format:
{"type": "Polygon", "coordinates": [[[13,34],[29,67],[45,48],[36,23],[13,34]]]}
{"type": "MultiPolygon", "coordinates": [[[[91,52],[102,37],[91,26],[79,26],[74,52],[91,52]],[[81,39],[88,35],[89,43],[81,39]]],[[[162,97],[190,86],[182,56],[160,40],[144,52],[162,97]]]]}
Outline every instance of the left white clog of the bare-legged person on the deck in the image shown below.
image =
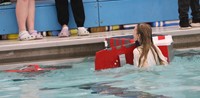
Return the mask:
{"type": "Polygon", "coordinates": [[[19,37],[18,39],[20,41],[28,41],[28,40],[34,40],[35,37],[34,36],[31,36],[28,31],[22,31],[22,32],[19,32],[19,37]]]}

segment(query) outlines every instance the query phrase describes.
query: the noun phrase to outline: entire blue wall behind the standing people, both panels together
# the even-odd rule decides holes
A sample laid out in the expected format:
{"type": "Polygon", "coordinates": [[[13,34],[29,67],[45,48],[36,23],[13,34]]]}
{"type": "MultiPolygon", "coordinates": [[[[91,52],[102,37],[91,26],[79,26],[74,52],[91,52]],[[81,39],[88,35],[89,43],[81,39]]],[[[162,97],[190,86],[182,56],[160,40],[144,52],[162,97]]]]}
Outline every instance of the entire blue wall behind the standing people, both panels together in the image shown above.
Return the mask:
{"type": "MultiPolygon", "coordinates": [[[[83,0],[85,27],[133,24],[178,19],[177,0],[83,0]]],[[[35,29],[60,30],[55,1],[37,0],[35,29]]],[[[70,8],[70,28],[76,24],[70,8]]],[[[18,33],[15,4],[0,6],[0,35],[18,33]]]]}

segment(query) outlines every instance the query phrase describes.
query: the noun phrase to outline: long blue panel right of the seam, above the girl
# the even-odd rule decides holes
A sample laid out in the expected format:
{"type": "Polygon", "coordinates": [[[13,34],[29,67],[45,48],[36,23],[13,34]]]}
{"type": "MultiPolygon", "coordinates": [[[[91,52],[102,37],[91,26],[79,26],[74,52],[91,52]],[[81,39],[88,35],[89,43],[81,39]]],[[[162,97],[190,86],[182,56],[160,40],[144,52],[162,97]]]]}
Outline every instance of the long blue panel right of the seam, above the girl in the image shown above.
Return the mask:
{"type": "Polygon", "coordinates": [[[177,0],[109,0],[99,6],[100,26],[178,19],[177,0]]]}

